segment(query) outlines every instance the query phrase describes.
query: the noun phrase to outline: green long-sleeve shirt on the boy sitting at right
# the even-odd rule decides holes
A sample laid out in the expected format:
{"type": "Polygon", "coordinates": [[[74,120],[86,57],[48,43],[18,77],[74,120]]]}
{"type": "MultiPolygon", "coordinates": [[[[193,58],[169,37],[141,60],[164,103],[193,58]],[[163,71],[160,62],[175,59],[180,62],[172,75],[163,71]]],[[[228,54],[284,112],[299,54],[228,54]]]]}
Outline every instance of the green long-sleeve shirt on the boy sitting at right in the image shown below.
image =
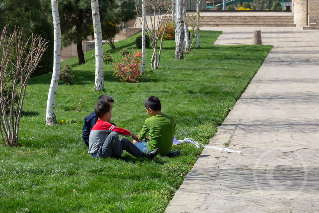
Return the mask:
{"type": "Polygon", "coordinates": [[[147,118],[138,137],[143,140],[148,132],[151,136],[147,143],[148,150],[153,151],[159,148],[160,155],[168,154],[173,144],[175,118],[164,114],[147,118]]]}

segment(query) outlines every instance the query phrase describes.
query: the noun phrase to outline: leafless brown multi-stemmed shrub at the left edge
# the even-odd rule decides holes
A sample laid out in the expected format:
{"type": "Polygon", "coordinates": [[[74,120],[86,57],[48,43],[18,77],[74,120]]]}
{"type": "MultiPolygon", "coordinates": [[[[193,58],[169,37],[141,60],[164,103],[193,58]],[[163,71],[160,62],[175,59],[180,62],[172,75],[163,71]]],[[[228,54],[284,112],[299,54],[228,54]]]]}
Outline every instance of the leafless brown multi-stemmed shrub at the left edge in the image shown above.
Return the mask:
{"type": "Polygon", "coordinates": [[[0,37],[0,128],[5,146],[17,146],[22,106],[28,80],[47,49],[40,35],[22,40],[23,30],[18,28],[7,37],[6,27],[0,37]],[[30,42],[30,47],[28,43],[30,42]],[[13,57],[14,56],[14,57],[13,57]],[[9,83],[12,81],[12,85],[9,83]],[[7,114],[9,112],[9,115],[7,114]]]}

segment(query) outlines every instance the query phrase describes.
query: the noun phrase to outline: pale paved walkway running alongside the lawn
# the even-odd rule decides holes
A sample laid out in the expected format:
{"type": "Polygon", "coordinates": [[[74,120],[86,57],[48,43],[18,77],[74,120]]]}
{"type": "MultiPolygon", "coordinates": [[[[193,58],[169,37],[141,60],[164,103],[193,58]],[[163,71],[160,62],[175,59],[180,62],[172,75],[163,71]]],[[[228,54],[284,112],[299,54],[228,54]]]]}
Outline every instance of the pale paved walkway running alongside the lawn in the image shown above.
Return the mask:
{"type": "Polygon", "coordinates": [[[166,212],[319,212],[319,30],[203,27],[273,45],[166,212]]]}

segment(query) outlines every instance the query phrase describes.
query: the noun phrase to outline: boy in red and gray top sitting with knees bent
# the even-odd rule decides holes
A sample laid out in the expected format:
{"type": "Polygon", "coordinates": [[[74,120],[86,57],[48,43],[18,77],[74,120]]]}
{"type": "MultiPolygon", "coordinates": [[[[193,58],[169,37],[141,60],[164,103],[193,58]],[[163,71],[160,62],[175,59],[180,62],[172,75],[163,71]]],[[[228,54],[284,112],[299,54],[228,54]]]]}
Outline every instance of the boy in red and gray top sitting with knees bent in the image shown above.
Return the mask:
{"type": "Polygon", "coordinates": [[[128,139],[119,139],[118,134],[121,134],[125,137],[131,136],[135,141],[141,142],[136,134],[110,123],[112,114],[109,103],[97,103],[94,111],[98,121],[93,126],[89,136],[89,153],[92,157],[114,157],[123,160],[124,158],[121,156],[123,150],[135,157],[145,156],[149,159],[153,159],[158,154],[158,149],[145,154],[128,139]]]}

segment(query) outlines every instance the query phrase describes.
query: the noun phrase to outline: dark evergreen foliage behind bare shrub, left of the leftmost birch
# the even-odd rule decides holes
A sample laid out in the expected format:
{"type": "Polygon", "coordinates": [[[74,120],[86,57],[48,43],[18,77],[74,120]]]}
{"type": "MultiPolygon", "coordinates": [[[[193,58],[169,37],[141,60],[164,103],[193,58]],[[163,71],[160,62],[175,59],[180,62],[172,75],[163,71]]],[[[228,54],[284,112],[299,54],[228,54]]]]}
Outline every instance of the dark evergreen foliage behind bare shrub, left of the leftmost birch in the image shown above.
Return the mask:
{"type": "Polygon", "coordinates": [[[32,34],[41,34],[41,37],[49,41],[48,48],[44,52],[39,67],[33,75],[41,75],[51,72],[53,69],[53,26],[51,2],[46,0],[2,0],[0,1],[0,28],[7,25],[7,32],[12,33],[15,26],[23,28],[23,40],[32,34]]]}

